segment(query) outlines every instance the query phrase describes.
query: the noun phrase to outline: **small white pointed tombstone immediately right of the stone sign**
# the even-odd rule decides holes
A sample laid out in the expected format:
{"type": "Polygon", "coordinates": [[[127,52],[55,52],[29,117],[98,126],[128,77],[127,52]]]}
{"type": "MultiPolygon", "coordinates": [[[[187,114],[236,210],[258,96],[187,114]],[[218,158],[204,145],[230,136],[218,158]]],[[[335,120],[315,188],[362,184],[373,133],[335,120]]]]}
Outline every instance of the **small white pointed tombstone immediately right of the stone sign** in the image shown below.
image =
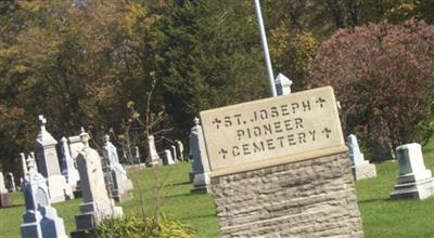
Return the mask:
{"type": "Polygon", "coordinates": [[[375,177],[375,164],[371,164],[368,160],[365,160],[365,156],[360,151],[356,135],[348,135],[347,146],[354,178],[358,181],[369,177],[375,177]]]}

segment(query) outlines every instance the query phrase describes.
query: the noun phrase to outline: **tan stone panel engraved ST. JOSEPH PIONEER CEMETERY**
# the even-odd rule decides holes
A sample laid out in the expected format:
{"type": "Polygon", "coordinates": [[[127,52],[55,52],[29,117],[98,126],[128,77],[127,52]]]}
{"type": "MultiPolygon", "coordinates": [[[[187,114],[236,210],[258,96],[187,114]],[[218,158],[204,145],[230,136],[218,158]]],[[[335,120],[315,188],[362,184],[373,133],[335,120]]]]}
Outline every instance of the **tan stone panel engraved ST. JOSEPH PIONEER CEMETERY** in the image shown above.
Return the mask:
{"type": "Polygon", "coordinates": [[[201,113],[212,171],[342,146],[331,87],[201,113]]]}

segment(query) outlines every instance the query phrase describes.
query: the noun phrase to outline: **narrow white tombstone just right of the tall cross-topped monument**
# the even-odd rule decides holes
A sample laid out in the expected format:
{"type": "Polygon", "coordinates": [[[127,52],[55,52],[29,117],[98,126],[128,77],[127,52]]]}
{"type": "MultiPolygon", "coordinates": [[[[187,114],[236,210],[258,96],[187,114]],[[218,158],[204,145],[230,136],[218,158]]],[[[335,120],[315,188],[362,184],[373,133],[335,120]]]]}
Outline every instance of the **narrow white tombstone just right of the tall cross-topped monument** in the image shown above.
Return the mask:
{"type": "Polygon", "coordinates": [[[65,137],[61,138],[61,154],[62,175],[66,178],[66,183],[71,186],[71,188],[75,190],[77,183],[80,181],[80,175],[74,166],[74,160],[71,157],[69,146],[65,137]]]}

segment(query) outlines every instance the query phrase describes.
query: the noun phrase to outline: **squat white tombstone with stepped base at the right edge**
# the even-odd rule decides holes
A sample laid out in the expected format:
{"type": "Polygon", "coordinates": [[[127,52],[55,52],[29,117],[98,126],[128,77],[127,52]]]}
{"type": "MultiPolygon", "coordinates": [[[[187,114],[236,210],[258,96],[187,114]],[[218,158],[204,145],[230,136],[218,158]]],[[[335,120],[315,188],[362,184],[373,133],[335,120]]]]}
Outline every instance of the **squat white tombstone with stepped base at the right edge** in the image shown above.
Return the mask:
{"type": "Polygon", "coordinates": [[[434,178],[423,162],[422,147],[418,143],[398,146],[399,175],[391,198],[426,199],[434,196],[434,178]]]}

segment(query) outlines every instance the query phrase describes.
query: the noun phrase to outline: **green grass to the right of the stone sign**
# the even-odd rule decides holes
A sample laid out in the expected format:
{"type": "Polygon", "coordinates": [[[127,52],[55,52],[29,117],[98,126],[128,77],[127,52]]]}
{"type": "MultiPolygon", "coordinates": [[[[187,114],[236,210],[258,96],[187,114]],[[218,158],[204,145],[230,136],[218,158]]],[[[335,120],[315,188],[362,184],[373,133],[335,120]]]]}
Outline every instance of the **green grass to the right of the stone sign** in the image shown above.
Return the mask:
{"type": "MultiPolygon", "coordinates": [[[[423,146],[426,169],[434,172],[434,138],[423,146]]],[[[399,164],[376,164],[378,177],[356,182],[358,206],[366,238],[434,237],[434,198],[423,201],[388,199],[399,164]]]]}

